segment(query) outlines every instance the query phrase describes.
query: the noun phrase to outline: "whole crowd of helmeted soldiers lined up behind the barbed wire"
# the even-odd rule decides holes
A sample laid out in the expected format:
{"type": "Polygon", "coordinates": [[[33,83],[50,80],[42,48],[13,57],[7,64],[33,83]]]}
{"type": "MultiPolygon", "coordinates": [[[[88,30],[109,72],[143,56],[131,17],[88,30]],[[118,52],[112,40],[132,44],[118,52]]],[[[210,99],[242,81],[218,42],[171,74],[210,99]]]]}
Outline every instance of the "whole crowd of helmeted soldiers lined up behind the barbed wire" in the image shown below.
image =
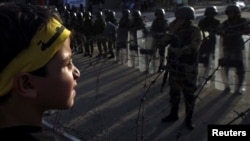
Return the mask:
{"type": "MultiPolygon", "coordinates": [[[[72,41],[73,51],[93,57],[94,44],[97,45],[97,56],[114,58],[115,53],[122,48],[131,51],[138,50],[137,31],[142,30],[144,35],[153,37],[153,46],[148,55],[159,54],[159,70],[167,69],[170,86],[170,114],[162,119],[163,122],[178,120],[180,95],[183,93],[186,105],[186,126],[193,129],[192,116],[197,90],[198,64],[205,67],[204,76],[211,72],[211,62],[214,60],[216,35],[222,37],[223,56],[218,60],[224,67],[225,74],[229,69],[236,68],[236,94],[243,93],[245,68],[243,61],[244,40],[242,35],[250,33],[249,21],[241,17],[241,9],[236,5],[228,5],[225,10],[227,19],[220,22],[215,18],[216,6],[205,9],[205,17],[198,26],[193,25],[195,10],[191,6],[183,6],[175,11],[175,20],[170,22],[165,18],[163,8],[155,10],[155,19],[149,30],[146,29],[145,19],[139,10],[122,10],[122,17],[117,19],[116,13],[110,9],[96,12],[86,11],[83,7],[70,8],[65,6],[60,14],[65,25],[71,29],[75,38],[72,41]],[[131,16],[131,18],[130,18],[131,16]],[[130,34],[130,39],[128,38],[130,34]],[[129,46],[127,46],[129,44],[129,46]],[[165,49],[168,47],[168,53],[165,49]],[[164,60],[167,59],[167,65],[164,60]]],[[[209,78],[209,77],[208,77],[209,78]]],[[[205,80],[207,80],[205,78],[205,80]]],[[[225,92],[230,87],[226,86],[225,92]]]]}

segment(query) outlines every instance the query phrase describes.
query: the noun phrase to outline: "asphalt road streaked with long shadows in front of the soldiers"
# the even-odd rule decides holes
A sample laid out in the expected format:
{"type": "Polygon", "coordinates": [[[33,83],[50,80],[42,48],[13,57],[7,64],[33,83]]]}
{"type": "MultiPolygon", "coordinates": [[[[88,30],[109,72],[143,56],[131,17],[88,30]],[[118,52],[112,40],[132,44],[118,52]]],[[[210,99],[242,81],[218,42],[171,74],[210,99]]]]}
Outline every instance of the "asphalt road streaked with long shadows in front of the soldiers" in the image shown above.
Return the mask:
{"type": "MultiPolygon", "coordinates": [[[[145,15],[152,18],[153,13],[145,15]]],[[[74,107],[44,117],[45,127],[60,141],[206,141],[209,124],[250,124],[249,71],[243,95],[215,89],[216,78],[197,91],[196,128],[190,131],[183,126],[183,100],[180,119],[161,122],[170,108],[168,85],[160,91],[163,74],[147,74],[127,64],[84,58],[83,54],[75,55],[73,61],[81,71],[74,107]]]]}

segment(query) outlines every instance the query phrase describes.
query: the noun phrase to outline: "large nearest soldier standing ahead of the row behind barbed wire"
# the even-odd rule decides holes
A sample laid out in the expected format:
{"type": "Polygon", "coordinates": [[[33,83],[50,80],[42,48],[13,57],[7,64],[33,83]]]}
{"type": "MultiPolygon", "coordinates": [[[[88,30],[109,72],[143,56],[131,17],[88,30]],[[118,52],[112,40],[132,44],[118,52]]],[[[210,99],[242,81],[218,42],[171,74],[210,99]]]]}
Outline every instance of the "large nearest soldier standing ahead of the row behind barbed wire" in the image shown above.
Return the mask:
{"type": "Polygon", "coordinates": [[[198,75],[199,47],[202,41],[201,31],[192,24],[194,13],[191,6],[177,9],[175,20],[169,24],[169,33],[162,39],[162,45],[170,44],[167,62],[171,104],[170,114],[164,117],[162,122],[179,119],[178,110],[182,93],[185,99],[185,125],[191,130],[194,129],[194,92],[198,75]]]}

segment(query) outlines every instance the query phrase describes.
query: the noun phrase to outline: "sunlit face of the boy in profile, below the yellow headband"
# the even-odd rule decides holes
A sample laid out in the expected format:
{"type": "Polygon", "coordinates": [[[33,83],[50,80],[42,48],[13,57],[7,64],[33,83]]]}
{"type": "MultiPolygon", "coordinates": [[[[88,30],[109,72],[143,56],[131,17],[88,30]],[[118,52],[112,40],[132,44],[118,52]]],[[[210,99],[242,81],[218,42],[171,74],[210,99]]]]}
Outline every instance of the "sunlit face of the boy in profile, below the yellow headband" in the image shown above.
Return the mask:
{"type": "Polygon", "coordinates": [[[76,95],[76,79],[80,77],[79,70],[72,62],[70,39],[66,39],[63,47],[47,64],[46,77],[35,76],[37,102],[44,109],[66,109],[74,104],[76,95]]]}

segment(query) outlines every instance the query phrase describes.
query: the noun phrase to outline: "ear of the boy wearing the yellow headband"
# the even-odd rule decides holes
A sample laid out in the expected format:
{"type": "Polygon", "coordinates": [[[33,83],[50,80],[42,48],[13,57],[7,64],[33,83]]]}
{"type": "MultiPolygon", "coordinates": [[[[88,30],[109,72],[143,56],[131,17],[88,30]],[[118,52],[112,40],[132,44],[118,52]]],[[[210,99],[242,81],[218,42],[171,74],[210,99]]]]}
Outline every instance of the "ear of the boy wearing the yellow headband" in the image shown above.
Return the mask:
{"type": "Polygon", "coordinates": [[[19,73],[13,81],[14,91],[27,98],[35,98],[37,91],[34,89],[32,77],[29,73],[19,73]]]}

